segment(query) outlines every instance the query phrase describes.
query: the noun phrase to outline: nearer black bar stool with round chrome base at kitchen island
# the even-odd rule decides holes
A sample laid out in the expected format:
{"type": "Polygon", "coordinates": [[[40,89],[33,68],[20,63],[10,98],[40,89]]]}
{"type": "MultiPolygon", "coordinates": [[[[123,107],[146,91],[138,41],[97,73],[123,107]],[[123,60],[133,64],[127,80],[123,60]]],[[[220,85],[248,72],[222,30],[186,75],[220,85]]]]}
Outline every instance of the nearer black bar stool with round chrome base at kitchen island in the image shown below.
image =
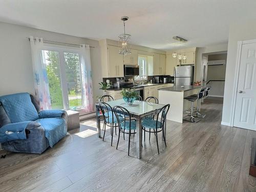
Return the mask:
{"type": "MultiPolygon", "coordinates": [[[[201,120],[201,118],[200,118],[200,119],[196,119],[196,118],[193,116],[194,102],[197,101],[197,112],[198,112],[198,111],[199,111],[199,100],[204,97],[204,91],[205,91],[205,89],[206,89],[206,88],[202,88],[202,89],[198,92],[197,96],[190,95],[190,96],[184,98],[184,99],[186,99],[186,100],[188,100],[188,101],[191,102],[191,109],[190,109],[190,116],[185,117],[183,120],[185,120],[185,121],[190,121],[190,122],[194,122],[194,123],[196,123],[196,122],[198,122],[198,121],[201,120]]],[[[201,115],[201,114],[200,114],[200,115],[201,115]]]]}

